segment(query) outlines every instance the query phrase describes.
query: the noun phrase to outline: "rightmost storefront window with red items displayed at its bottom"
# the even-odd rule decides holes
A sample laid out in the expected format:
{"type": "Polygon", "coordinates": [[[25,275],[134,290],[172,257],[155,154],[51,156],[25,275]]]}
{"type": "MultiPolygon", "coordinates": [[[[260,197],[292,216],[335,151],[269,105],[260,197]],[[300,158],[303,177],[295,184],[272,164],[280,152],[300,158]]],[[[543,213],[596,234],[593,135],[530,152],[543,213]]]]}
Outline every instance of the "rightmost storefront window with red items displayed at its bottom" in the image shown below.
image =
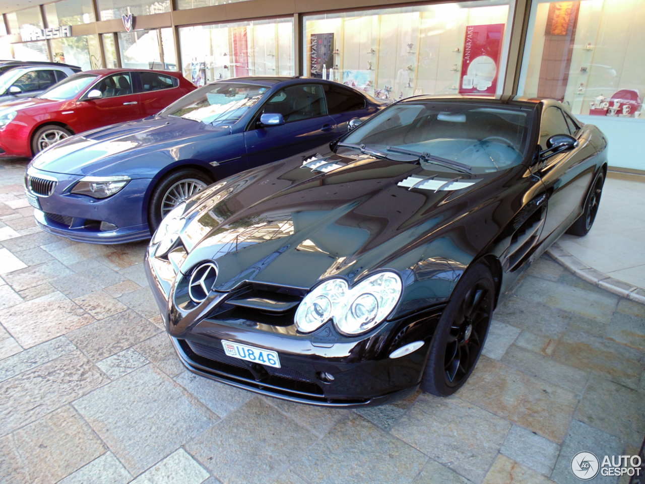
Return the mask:
{"type": "Polygon", "coordinates": [[[645,119],[644,29],[645,0],[535,2],[519,93],[577,115],[645,119]]]}

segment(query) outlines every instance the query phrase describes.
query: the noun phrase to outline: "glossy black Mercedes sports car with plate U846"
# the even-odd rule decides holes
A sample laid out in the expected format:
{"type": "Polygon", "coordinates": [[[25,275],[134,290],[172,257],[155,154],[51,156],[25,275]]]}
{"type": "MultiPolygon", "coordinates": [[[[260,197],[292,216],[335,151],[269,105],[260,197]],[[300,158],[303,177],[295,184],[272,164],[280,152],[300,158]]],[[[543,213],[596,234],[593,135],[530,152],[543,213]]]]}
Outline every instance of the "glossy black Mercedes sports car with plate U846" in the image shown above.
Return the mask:
{"type": "Polygon", "coordinates": [[[556,101],[414,97],[175,208],[148,278],[194,373],[315,405],[446,396],[523,269],[589,231],[606,147],[556,101]]]}

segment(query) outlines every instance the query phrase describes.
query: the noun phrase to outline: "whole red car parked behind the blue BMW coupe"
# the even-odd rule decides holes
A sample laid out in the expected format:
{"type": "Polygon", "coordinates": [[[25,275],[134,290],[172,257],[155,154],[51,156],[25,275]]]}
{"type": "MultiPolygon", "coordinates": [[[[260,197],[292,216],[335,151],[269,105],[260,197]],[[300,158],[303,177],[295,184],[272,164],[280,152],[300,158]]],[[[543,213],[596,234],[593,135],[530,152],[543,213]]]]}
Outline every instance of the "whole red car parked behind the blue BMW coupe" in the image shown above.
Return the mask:
{"type": "Polygon", "coordinates": [[[195,89],[180,72],[79,72],[38,97],[0,104],[0,155],[32,157],[76,133],[156,114],[195,89]]]}

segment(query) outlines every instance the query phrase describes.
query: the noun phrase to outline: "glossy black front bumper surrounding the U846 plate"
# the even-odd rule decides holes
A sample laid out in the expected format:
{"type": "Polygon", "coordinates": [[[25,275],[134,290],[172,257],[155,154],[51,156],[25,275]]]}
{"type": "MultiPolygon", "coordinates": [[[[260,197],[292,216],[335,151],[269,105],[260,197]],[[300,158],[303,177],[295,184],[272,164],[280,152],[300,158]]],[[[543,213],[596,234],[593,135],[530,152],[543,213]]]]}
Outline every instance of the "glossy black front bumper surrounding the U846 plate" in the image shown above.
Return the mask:
{"type": "Polygon", "coordinates": [[[233,324],[208,316],[180,331],[168,321],[168,301],[148,260],[146,269],[166,329],[188,370],[248,391],[310,405],[381,405],[415,392],[442,313],[442,307],[426,309],[386,322],[375,333],[338,342],[317,341],[317,332],[286,334],[284,327],[278,331],[268,325],[254,326],[250,320],[237,320],[233,324]],[[222,340],[276,351],[281,368],[227,356],[222,340]],[[417,351],[401,358],[389,358],[395,349],[419,340],[425,344],[417,351]],[[333,380],[324,374],[332,375],[333,380]]]}

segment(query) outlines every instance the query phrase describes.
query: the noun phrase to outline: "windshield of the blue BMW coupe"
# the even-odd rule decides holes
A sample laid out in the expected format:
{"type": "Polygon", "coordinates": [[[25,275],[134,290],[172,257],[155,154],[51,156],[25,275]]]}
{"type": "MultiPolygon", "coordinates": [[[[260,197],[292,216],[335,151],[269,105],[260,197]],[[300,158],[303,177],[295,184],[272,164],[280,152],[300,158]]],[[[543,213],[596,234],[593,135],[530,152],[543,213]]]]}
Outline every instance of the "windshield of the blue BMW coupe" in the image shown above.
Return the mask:
{"type": "Polygon", "coordinates": [[[184,96],[159,114],[224,126],[237,122],[267,91],[253,84],[217,82],[184,96]]]}

